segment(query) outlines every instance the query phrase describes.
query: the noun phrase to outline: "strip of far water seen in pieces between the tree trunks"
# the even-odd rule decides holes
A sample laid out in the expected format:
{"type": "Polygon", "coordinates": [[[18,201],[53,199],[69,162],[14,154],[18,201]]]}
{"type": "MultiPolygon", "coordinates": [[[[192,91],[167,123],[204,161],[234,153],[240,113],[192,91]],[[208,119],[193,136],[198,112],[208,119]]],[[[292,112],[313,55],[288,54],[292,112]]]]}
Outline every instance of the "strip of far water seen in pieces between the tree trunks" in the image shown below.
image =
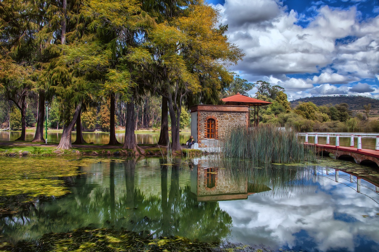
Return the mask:
{"type": "MultiPolygon", "coordinates": [[[[34,138],[35,132],[26,132],[25,141],[30,142],[34,138]]],[[[159,140],[160,132],[152,133],[138,133],[136,132],[136,142],[138,145],[141,144],[154,144],[159,140]]],[[[14,141],[20,137],[20,131],[1,131],[0,132],[0,141],[14,141]]],[[[180,143],[185,143],[191,133],[181,132],[180,133],[180,143]]],[[[47,142],[48,143],[59,143],[61,140],[62,132],[47,132],[47,142]]],[[[45,135],[44,135],[45,137],[45,135]]],[[[116,133],[117,141],[124,143],[125,133],[116,133]]],[[[171,134],[169,135],[171,138],[171,134]]],[[[109,132],[83,132],[83,138],[87,143],[95,144],[107,144],[109,143],[109,132]]],[[[72,142],[76,140],[76,132],[71,134],[72,142]]]]}

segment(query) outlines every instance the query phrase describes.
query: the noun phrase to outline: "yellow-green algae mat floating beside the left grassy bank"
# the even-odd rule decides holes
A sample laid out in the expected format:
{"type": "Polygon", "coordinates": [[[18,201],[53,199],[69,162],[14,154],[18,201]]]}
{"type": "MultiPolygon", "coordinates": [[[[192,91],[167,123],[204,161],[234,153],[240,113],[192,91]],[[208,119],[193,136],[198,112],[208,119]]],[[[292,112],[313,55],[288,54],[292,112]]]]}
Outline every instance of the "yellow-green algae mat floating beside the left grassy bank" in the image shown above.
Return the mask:
{"type": "MultiPolygon", "coordinates": [[[[29,197],[25,197],[24,201],[31,201],[39,196],[63,196],[69,193],[69,190],[62,178],[80,175],[81,172],[78,171],[80,166],[110,161],[110,159],[101,158],[70,160],[60,157],[0,157],[0,166],[2,167],[0,170],[0,197],[28,195],[29,197]]],[[[122,160],[112,161],[122,162],[122,160]]],[[[3,203],[1,202],[3,200],[0,199],[0,203],[3,203]]]]}

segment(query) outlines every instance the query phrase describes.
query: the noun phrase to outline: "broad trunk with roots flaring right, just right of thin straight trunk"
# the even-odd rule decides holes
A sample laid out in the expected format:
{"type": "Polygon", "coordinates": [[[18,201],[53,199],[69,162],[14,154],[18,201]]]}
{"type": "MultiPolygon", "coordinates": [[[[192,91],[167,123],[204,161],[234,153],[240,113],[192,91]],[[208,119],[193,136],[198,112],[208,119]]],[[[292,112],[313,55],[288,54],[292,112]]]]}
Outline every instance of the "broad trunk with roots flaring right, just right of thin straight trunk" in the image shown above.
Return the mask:
{"type": "Polygon", "coordinates": [[[127,103],[126,114],[126,126],[125,126],[125,138],[123,149],[132,149],[136,156],[139,155],[137,148],[141,151],[141,154],[145,154],[145,151],[138,147],[136,144],[136,138],[134,134],[134,101],[127,103]]]}

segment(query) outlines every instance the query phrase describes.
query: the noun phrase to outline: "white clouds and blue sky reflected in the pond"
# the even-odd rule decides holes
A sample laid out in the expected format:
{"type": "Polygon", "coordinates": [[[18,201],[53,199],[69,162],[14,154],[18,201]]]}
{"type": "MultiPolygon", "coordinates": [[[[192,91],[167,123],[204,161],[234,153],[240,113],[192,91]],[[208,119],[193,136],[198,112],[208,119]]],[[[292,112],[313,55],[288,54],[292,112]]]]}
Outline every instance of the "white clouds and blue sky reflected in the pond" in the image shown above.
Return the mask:
{"type": "Polygon", "coordinates": [[[300,244],[302,249],[321,251],[353,251],[365,236],[377,243],[379,205],[369,197],[378,201],[378,194],[365,188],[373,185],[363,179],[362,193],[357,193],[356,184],[345,175],[340,171],[339,181],[344,184],[334,181],[334,171],[318,176],[319,188],[297,185],[288,197],[257,193],[247,200],[219,202],[233,218],[232,241],[271,249],[300,244]]]}

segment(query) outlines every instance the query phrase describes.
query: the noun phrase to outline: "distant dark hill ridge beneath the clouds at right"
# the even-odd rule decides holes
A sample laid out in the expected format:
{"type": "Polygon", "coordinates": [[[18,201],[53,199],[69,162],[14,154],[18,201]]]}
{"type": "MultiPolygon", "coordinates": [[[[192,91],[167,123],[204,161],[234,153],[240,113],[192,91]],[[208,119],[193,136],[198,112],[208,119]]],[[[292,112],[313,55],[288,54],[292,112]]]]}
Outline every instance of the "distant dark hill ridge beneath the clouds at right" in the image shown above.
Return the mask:
{"type": "Polygon", "coordinates": [[[371,103],[371,109],[379,109],[379,100],[373,99],[367,96],[355,96],[355,95],[336,95],[336,96],[314,96],[314,97],[306,97],[300,98],[293,101],[290,101],[291,107],[296,107],[299,103],[306,103],[312,101],[312,103],[317,106],[340,103],[349,104],[350,110],[363,110],[363,105],[367,105],[371,103]]]}

